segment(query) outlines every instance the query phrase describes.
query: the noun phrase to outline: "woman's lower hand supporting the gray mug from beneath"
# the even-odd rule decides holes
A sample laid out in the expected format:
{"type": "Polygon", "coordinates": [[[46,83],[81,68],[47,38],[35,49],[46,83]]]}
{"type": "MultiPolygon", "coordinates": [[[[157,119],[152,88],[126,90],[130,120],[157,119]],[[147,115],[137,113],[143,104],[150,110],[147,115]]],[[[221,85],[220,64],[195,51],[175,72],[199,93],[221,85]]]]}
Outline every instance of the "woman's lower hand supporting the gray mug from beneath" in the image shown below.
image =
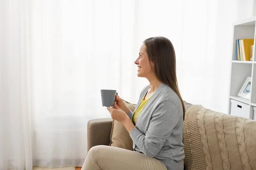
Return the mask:
{"type": "Polygon", "coordinates": [[[118,122],[124,123],[128,119],[130,120],[128,115],[117,106],[116,101],[114,102],[113,108],[108,107],[107,109],[108,109],[109,113],[111,114],[112,119],[114,119],[118,122]]]}

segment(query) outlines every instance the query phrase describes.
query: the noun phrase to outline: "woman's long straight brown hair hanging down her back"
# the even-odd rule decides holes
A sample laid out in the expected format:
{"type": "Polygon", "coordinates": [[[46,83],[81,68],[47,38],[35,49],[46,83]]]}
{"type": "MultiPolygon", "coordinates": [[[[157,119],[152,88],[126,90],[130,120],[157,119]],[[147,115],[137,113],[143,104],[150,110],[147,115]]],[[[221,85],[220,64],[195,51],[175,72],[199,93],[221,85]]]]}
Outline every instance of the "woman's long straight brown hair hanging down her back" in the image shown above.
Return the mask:
{"type": "MultiPolygon", "coordinates": [[[[183,107],[183,120],[185,119],[185,106],[180,95],[176,76],[176,57],[172,42],[166,37],[151,37],[144,41],[149,61],[154,63],[154,74],[157,78],[169,85],[180,97],[183,107]]],[[[152,68],[152,65],[151,65],[152,68]]]]}

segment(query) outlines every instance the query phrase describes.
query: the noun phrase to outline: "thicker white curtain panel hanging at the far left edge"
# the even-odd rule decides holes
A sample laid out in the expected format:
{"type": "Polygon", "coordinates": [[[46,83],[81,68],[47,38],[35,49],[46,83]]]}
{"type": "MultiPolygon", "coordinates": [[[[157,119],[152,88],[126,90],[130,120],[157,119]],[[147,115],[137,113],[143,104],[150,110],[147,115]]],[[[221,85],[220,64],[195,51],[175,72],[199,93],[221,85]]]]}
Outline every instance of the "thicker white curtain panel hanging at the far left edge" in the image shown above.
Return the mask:
{"type": "Polygon", "coordinates": [[[0,170],[32,169],[30,9],[0,0],[0,170]]]}

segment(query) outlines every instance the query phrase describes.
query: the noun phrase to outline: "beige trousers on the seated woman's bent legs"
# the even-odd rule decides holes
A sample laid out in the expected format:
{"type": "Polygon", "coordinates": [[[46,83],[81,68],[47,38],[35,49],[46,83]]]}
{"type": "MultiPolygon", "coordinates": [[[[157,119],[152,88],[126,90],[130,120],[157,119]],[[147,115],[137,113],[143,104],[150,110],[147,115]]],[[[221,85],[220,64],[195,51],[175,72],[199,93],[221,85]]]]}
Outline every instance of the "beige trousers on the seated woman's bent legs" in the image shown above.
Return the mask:
{"type": "Polygon", "coordinates": [[[81,170],[167,170],[162,162],[143,153],[99,145],[87,153],[81,170]]]}

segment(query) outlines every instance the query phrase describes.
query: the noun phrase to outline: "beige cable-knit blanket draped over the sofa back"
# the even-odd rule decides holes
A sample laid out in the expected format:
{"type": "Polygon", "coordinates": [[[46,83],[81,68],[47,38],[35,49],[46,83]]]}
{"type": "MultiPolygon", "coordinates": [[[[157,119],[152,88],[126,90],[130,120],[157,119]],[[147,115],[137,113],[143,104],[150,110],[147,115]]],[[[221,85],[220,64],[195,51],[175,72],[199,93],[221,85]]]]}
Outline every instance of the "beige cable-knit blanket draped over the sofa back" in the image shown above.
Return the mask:
{"type": "Polygon", "coordinates": [[[256,169],[256,121],[192,105],[184,120],[186,170],[256,169]]]}

